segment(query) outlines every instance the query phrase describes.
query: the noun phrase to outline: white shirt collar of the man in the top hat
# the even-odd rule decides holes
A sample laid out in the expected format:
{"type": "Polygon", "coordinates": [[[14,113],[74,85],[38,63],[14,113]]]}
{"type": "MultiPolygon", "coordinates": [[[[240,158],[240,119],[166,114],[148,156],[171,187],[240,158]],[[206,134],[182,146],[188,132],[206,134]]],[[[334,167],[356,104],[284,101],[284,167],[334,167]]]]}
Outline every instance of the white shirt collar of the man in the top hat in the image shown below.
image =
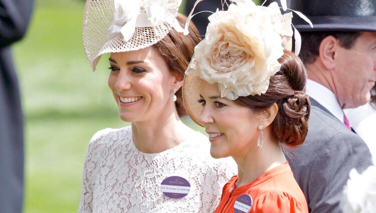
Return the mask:
{"type": "Polygon", "coordinates": [[[343,123],[343,111],[334,93],[323,85],[308,79],[306,93],[343,123]]]}

